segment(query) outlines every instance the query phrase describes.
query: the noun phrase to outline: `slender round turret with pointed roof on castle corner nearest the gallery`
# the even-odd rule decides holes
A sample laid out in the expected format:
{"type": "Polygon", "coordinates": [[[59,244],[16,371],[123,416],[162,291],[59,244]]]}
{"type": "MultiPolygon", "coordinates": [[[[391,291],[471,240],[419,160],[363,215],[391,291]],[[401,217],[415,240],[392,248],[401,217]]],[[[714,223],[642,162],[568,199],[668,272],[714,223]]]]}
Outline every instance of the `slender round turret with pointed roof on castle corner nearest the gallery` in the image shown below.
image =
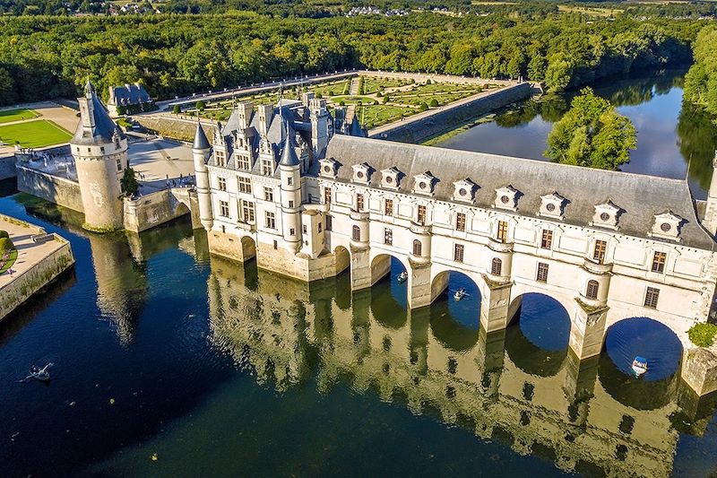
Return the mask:
{"type": "Polygon", "coordinates": [[[290,252],[301,246],[301,162],[287,131],[279,161],[281,177],[281,229],[284,245],[290,252]]]}

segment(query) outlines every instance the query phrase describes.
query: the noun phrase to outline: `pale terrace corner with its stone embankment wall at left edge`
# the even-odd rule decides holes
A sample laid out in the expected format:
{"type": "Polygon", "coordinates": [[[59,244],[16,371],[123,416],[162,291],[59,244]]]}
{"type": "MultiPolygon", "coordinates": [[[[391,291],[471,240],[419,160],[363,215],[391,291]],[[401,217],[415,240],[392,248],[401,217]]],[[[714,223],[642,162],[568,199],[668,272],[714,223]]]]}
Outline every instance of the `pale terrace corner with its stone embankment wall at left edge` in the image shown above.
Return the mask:
{"type": "Polygon", "coordinates": [[[11,270],[0,275],[0,320],[30,297],[47,287],[74,264],[70,243],[58,234],[13,217],[0,214],[0,230],[5,230],[17,248],[11,270]],[[33,237],[39,239],[37,242],[33,237]]]}

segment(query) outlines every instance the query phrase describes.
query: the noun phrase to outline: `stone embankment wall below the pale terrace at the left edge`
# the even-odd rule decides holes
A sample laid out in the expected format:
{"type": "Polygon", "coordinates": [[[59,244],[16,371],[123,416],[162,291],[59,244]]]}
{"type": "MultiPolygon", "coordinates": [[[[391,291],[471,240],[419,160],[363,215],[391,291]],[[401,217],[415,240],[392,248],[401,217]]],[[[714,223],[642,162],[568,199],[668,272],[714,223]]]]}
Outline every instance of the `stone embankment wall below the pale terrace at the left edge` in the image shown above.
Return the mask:
{"type": "Polygon", "coordinates": [[[55,240],[63,243],[62,246],[29,270],[15,275],[13,282],[0,290],[0,297],[3,298],[0,300],[0,320],[74,264],[70,243],[56,234],[54,236],[55,240]]]}

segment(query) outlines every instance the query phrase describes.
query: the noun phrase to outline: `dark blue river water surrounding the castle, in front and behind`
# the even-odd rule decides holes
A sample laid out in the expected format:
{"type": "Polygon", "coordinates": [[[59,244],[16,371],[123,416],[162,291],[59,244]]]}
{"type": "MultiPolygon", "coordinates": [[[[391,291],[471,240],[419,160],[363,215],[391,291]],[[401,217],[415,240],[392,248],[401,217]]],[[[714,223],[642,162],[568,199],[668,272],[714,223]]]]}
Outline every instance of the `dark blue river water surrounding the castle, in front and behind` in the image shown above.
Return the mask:
{"type": "MultiPolygon", "coordinates": [[[[667,135],[682,121],[678,78],[636,81],[643,101],[620,109],[672,99],[667,135]]],[[[537,158],[551,104],[463,135],[505,148],[510,134],[537,158]]],[[[658,126],[645,121],[641,142],[658,126]]],[[[677,137],[662,139],[680,174],[688,138],[677,137]]],[[[695,187],[703,180],[695,172],[695,187]]],[[[77,264],[0,324],[2,476],[715,471],[714,400],[680,383],[679,344],[648,319],[611,327],[607,352],[578,363],[566,311],[546,296],[525,296],[511,326],[486,335],[479,292],[460,274],[449,291],[466,298],[410,311],[398,261],[370,291],[351,293],[348,273],[309,286],[210,256],[186,221],[101,236],[4,186],[0,212],[65,236],[77,264]],[[654,357],[641,380],[628,374],[636,353],[654,357]],[[48,361],[48,385],[15,382],[48,361]]]]}

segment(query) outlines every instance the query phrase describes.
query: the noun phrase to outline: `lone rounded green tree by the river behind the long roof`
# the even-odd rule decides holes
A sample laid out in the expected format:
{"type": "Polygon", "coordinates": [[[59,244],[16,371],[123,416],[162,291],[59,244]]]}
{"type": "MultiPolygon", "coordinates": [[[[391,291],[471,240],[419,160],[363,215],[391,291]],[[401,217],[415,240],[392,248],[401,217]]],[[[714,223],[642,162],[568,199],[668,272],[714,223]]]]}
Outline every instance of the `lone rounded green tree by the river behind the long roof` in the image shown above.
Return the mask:
{"type": "Polygon", "coordinates": [[[635,149],[635,126],[608,100],[584,88],[548,135],[551,160],[598,169],[618,169],[635,149]]]}

